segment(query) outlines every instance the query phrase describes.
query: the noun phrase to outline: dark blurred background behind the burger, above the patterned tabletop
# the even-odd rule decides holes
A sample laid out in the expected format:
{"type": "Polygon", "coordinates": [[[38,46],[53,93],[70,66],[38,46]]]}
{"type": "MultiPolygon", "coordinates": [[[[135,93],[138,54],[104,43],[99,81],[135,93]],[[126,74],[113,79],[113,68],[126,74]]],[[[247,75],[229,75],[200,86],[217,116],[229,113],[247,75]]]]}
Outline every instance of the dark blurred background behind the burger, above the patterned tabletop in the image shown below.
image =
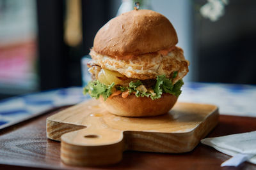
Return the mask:
{"type": "MultiPolygon", "coordinates": [[[[185,81],[256,84],[256,1],[148,0],[191,62],[185,81]]],[[[131,0],[0,0],[0,99],[81,86],[81,59],[131,0]]]]}

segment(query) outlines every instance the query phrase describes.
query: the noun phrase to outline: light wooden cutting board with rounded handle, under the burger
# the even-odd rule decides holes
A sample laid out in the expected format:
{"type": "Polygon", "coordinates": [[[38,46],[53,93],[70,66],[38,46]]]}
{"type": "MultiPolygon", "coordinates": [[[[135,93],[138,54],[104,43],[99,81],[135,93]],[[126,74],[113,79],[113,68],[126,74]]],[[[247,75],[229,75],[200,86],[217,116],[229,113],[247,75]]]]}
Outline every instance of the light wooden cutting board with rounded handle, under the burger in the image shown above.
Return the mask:
{"type": "Polygon", "coordinates": [[[176,103],[165,115],[118,117],[90,99],[47,118],[47,138],[61,141],[61,160],[74,166],[115,164],[125,150],[184,153],[218,124],[218,108],[176,103]]]}

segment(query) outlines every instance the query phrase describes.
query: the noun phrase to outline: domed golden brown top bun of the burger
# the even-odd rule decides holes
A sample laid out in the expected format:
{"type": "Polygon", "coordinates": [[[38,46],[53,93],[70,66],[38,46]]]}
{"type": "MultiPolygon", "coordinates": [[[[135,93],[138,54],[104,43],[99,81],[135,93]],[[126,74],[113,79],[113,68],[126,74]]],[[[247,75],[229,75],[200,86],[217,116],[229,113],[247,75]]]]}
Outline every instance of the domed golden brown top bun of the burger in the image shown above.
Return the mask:
{"type": "Polygon", "coordinates": [[[124,57],[168,49],[178,43],[171,22],[156,11],[133,10],[115,17],[96,34],[93,50],[124,57]]]}

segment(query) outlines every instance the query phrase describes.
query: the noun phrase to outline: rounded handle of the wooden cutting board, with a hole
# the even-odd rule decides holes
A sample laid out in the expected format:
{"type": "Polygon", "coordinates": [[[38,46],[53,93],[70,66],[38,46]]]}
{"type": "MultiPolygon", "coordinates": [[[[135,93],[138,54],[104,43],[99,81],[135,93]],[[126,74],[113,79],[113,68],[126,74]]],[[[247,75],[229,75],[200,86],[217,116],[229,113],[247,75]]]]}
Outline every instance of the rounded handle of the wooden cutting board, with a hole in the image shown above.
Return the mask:
{"type": "Polygon", "coordinates": [[[61,160],[66,164],[115,164],[123,152],[123,132],[109,127],[88,127],[61,136],[61,160]]]}

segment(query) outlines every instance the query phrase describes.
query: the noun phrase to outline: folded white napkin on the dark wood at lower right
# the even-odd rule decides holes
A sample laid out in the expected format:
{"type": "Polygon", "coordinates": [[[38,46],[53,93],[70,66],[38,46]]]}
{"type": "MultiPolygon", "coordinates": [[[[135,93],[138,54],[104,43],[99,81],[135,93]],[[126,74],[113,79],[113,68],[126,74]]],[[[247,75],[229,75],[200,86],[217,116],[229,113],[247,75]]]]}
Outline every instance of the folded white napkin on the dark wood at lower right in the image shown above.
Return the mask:
{"type": "Polygon", "coordinates": [[[244,161],[256,164],[256,131],[205,138],[201,140],[201,143],[232,156],[221,166],[239,166],[244,161]]]}

